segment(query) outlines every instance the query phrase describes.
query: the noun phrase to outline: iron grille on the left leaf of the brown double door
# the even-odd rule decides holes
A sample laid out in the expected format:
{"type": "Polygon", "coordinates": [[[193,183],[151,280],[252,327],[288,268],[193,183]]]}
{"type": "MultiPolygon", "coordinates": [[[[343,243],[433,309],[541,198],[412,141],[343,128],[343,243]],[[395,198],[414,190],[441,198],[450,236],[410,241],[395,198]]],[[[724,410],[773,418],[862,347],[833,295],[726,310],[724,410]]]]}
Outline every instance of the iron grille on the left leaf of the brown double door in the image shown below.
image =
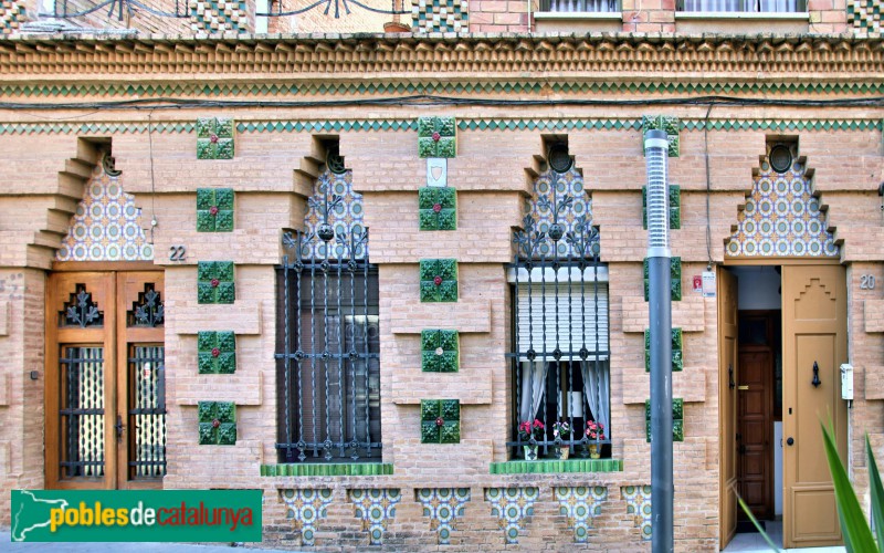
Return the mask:
{"type": "Polygon", "coordinates": [[[105,471],[104,348],[65,346],[59,389],[62,478],[101,478],[105,471]]]}

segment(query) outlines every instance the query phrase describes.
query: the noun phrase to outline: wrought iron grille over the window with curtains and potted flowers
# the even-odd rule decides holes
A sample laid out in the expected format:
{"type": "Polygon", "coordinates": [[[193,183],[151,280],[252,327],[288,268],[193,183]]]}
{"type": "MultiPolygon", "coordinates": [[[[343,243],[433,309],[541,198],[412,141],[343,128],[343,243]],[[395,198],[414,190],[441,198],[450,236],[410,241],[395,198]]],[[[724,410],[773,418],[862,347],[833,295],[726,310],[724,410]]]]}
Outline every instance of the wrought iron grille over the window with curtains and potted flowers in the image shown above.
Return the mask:
{"type": "Polygon", "coordinates": [[[515,387],[507,445],[528,459],[576,446],[588,453],[593,444],[609,452],[608,270],[591,204],[573,168],[545,171],[535,194],[507,267],[515,387]]]}

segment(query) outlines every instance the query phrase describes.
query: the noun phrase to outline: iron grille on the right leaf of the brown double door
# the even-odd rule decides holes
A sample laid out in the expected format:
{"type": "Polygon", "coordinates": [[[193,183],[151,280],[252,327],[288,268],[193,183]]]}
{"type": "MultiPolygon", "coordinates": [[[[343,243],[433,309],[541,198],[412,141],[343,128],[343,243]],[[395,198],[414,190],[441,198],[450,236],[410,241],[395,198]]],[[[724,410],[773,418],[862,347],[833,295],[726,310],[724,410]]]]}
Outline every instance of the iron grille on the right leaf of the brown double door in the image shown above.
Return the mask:
{"type": "Polygon", "coordinates": [[[166,474],[165,347],[129,346],[129,480],[166,474]]]}

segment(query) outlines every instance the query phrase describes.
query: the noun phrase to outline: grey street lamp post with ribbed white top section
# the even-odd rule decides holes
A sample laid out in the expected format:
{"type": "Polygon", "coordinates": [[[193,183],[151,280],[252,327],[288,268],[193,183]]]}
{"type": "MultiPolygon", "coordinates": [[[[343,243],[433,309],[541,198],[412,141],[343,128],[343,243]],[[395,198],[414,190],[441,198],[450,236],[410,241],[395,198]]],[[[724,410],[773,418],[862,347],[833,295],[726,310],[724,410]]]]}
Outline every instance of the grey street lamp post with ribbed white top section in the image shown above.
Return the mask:
{"type": "Polygon", "coordinates": [[[672,289],[670,260],[669,139],[644,135],[648,169],[648,269],[651,334],[651,551],[673,551],[672,289]]]}

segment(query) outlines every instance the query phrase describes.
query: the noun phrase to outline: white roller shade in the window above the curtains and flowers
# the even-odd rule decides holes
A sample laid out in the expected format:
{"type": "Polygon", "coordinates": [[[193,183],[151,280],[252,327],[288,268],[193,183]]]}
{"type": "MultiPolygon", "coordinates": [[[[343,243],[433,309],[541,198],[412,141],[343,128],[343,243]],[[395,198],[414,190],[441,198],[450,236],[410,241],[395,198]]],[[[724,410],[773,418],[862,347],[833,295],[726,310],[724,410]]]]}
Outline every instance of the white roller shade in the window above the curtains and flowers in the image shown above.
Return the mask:
{"type": "Polygon", "coordinates": [[[526,353],[534,349],[535,361],[552,362],[556,348],[562,361],[579,361],[583,347],[588,361],[607,359],[608,283],[572,281],[569,288],[559,281],[557,290],[555,282],[519,282],[516,332],[519,361],[527,361],[526,353]]]}

